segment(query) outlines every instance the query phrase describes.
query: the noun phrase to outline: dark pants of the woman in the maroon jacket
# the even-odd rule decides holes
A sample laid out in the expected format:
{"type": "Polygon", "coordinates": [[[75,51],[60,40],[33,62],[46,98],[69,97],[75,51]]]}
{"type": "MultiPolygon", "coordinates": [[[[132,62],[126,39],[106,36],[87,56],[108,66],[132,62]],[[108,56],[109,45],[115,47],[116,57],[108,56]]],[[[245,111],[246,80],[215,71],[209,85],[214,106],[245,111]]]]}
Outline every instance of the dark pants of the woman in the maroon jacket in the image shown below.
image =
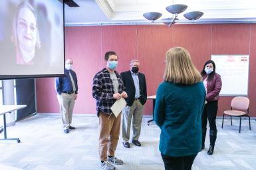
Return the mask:
{"type": "Polygon", "coordinates": [[[218,110],[218,101],[209,101],[203,108],[203,114],[201,115],[201,128],[206,131],[207,118],[209,121],[210,130],[217,130],[216,128],[216,116],[218,110]]]}

